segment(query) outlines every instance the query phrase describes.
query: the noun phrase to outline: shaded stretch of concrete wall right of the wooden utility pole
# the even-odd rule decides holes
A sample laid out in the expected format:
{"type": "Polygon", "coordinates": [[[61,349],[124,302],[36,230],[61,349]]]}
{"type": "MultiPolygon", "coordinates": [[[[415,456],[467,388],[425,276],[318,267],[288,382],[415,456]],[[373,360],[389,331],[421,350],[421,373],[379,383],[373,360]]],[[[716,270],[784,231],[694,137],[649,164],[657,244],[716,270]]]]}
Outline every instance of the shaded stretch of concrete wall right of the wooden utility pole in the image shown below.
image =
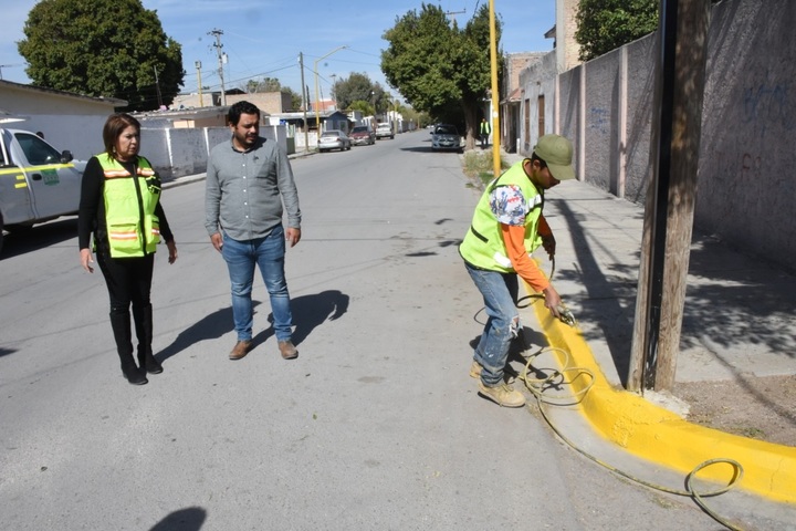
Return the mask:
{"type": "Polygon", "coordinates": [[[796,270],[796,2],[712,11],[696,222],[796,270]]]}

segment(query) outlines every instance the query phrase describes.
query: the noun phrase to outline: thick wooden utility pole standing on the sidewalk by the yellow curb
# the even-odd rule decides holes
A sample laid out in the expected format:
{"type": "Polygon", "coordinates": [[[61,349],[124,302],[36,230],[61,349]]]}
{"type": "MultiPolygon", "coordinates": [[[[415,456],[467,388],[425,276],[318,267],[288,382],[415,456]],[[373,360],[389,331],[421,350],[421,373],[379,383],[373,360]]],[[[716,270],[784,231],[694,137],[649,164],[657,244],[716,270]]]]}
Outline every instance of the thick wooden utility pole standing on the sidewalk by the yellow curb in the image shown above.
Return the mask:
{"type": "Polygon", "coordinates": [[[670,391],[685,301],[710,0],[661,0],[630,391],[670,391]]]}

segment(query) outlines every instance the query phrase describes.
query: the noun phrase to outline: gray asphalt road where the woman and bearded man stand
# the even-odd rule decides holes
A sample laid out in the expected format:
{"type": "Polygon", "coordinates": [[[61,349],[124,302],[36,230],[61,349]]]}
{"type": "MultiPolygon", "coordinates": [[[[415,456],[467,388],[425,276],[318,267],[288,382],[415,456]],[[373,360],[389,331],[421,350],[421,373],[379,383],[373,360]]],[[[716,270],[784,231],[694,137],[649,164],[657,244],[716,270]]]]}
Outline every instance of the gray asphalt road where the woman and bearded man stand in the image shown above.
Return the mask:
{"type": "MultiPolygon", "coordinates": [[[[235,337],[203,181],[164,204],[155,352],[127,384],[74,219],[0,260],[2,530],[715,530],[680,500],[562,444],[533,408],[476,394],[480,296],[457,252],[478,192],[427,132],[296,159],[287,253],[300,356],[283,361],[261,281],[255,348],[235,337]]],[[[143,153],[146,154],[146,146],[143,153]]],[[[532,325],[526,322],[526,325],[532,325]]]]}

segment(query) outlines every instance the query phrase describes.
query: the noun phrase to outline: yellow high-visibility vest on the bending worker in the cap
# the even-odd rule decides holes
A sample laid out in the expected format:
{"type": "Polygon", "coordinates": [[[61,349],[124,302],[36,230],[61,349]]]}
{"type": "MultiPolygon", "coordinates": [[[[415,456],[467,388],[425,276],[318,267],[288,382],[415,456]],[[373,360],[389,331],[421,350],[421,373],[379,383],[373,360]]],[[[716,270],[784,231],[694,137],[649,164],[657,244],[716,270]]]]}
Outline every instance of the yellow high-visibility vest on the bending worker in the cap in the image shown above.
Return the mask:
{"type": "MultiPolygon", "coordinates": [[[[524,162],[523,162],[524,163],[524,162]]],[[[470,230],[459,246],[459,253],[470,264],[501,273],[514,272],[503,242],[501,223],[490,207],[490,196],[499,186],[514,185],[525,198],[525,250],[531,254],[542,244],[538,220],[544,206],[544,191],[538,190],[517,163],[486,186],[475,207],[470,230]]]]}

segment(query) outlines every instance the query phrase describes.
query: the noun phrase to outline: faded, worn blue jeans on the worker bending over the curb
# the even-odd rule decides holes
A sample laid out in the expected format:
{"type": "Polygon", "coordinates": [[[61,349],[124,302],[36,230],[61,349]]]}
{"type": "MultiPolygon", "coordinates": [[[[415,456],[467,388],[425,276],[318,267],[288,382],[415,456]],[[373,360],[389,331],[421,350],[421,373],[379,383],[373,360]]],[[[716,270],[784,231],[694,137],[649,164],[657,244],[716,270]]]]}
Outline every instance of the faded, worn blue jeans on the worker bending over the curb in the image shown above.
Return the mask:
{"type": "Polygon", "coordinates": [[[481,381],[494,387],[503,383],[503,367],[509,358],[511,340],[517,333],[520,313],[503,273],[476,269],[467,262],[464,266],[483,295],[488,315],[473,358],[483,366],[481,381]]]}

